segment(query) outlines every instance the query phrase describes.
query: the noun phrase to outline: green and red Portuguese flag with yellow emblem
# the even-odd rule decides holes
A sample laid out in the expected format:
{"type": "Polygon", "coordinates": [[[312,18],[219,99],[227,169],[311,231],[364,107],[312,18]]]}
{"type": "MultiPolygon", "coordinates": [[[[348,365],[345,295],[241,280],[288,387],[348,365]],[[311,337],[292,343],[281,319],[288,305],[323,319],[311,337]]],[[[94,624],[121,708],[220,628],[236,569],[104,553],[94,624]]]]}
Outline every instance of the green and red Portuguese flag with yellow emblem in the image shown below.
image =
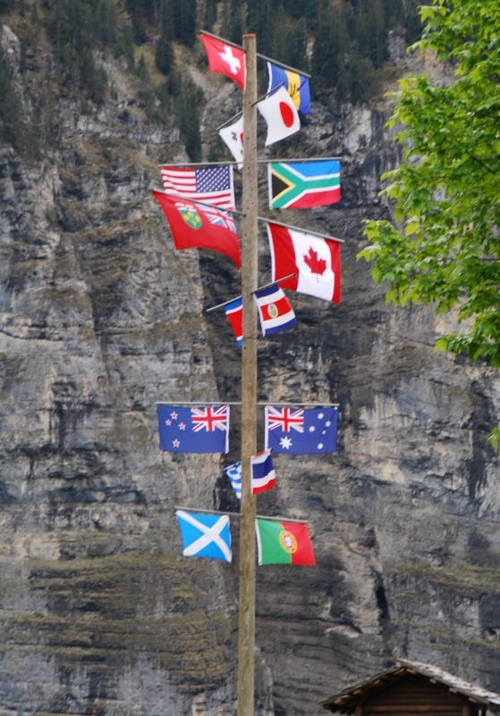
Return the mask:
{"type": "Polygon", "coordinates": [[[257,519],[259,565],[315,565],[307,525],[257,519]]]}

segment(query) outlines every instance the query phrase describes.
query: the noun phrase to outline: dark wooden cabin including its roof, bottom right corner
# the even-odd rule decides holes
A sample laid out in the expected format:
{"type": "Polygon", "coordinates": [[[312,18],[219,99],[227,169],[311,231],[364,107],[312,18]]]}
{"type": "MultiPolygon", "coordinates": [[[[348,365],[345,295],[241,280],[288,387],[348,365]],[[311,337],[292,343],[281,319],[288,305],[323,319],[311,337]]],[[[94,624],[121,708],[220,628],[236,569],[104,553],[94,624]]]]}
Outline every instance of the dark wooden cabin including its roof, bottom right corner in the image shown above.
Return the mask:
{"type": "Polygon", "coordinates": [[[321,705],[353,716],[486,716],[500,712],[500,695],[430,664],[399,660],[321,705]]]}

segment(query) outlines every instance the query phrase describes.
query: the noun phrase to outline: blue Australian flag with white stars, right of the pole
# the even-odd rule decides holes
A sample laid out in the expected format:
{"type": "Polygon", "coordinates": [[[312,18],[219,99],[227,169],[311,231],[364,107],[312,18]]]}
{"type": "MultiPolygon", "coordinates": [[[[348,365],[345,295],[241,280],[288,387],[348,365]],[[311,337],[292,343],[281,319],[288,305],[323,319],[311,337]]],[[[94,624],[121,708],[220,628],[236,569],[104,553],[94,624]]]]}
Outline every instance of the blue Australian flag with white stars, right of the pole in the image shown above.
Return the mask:
{"type": "Polygon", "coordinates": [[[335,453],[338,408],[266,405],[266,449],[288,455],[335,453]]]}

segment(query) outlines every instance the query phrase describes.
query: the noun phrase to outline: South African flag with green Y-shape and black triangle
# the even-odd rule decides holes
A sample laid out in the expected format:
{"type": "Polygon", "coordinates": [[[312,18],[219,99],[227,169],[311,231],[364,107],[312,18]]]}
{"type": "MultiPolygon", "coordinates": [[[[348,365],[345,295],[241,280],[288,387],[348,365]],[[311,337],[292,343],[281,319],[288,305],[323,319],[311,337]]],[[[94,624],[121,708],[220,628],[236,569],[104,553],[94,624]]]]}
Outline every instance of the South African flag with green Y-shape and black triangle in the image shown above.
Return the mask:
{"type": "Polygon", "coordinates": [[[269,209],[310,209],[340,201],[340,162],[270,162],[269,209]]]}

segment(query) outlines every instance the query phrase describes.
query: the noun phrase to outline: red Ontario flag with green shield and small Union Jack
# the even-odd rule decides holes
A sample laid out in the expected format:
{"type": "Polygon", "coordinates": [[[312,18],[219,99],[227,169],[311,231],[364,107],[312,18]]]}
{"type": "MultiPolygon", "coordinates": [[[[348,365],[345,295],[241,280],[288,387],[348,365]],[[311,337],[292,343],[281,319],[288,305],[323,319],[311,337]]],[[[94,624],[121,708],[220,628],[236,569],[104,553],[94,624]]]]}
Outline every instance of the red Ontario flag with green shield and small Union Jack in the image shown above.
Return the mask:
{"type": "Polygon", "coordinates": [[[165,192],[152,192],[163,209],[177,251],[181,249],[212,249],[242,265],[240,242],[233,217],[228,211],[179,199],[165,192]]]}

